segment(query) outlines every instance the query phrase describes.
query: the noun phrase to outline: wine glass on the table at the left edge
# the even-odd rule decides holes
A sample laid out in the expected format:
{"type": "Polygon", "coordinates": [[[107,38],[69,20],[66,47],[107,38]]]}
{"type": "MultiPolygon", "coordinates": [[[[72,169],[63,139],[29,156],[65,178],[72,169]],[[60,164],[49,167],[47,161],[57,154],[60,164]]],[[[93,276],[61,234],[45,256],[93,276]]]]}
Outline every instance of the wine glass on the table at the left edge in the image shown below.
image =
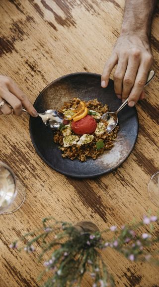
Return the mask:
{"type": "Polygon", "coordinates": [[[25,188],[9,166],[0,161],[0,214],[18,210],[25,200],[25,188]]]}

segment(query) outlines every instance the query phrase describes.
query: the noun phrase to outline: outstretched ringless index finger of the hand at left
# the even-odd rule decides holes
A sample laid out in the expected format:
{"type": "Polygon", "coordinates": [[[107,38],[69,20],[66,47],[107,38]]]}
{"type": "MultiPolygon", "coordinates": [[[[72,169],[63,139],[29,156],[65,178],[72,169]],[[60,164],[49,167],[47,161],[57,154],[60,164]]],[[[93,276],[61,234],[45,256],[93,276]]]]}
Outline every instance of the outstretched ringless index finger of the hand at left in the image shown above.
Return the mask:
{"type": "Polygon", "coordinates": [[[28,100],[27,96],[19,89],[19,87],[14,83],[13,81],[8,84],[9,90],[12,94],[16,96],[18,101],[21,102],[21,107],[19,106],[19,111],[21,110],[22,106],[29,112],[30,115],[33,117],[37,117],[38,113],[31,104],[31,102],[28,100]]]}

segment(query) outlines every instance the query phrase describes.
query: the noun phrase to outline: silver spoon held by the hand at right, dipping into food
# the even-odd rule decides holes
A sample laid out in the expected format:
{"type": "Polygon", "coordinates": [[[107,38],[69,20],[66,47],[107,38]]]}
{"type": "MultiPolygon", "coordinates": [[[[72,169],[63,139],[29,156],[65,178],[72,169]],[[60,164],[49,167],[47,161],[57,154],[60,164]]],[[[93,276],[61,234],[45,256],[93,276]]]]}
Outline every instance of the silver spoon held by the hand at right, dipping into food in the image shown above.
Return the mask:
{"type": "MultiPolygon", "coordinates": [[[[153,70],[148,73],[147,82],[146,82],[145,86],[147,86],[151,82],[151,80],[154,78],[154,76],[155,76],[155,72],[153,70]]],[[[118,123],[118,112],[120,112],[122,110],[122,108],[126,106],[127,103],[128,103],[128,98],[117,109],[116,112],[107,112],[107,113],[102,115],[101,119],[108,122],[108,125],[106,127],[106,130],[108,133],[110,133],[116,127],[116,125],[118,123]]]]}

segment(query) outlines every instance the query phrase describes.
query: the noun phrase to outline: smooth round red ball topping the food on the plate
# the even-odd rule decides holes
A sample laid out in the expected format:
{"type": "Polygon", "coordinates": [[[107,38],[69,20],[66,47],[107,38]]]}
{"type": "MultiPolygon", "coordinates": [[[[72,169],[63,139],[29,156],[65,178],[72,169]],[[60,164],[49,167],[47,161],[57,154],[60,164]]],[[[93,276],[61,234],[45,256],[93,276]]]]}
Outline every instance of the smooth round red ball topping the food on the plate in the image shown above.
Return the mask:
{"type": "Polygon", "coordinates": [[[72,121],[72,129],[77,135],[92,134],[96,130],[96,126],[96,121],[89,115],[77,122],[72,121]]]}

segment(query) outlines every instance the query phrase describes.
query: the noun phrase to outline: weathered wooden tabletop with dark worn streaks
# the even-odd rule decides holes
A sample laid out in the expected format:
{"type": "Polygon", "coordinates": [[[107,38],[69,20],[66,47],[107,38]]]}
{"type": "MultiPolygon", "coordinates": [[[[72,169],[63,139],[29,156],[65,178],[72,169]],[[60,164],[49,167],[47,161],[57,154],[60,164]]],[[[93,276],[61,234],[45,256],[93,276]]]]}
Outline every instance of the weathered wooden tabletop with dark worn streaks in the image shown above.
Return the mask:
{"type": "MultiPolygon", "coordinates": [[[[119,36],[124,0],[1,0],[0,73],[9,75],[32,102],[52,80],[72,72],[101,73],[119,36]]],[[[38,287],[42,265],[36,255],[9,249],[10,242],[53,215],[76,223],[90,220],[100,229],[141,220],[151,202],[147,187],[159,170],[159,9],[152,28],[156,77],[138,103],[140,131],[127,161],[98,179],[67,178],[36,154],[29,118],[0,116],[0,159],[26,187],[23,206],[0,216],[0,287],[38,287]]],[[[156,234],[159,231],[155,231],[156,234]]],[[[159,270],[131,263],[113,251],[103,252],[119,287],[159,287],[159,270]]],[[[83,287],[91,286],[88,277],[83,287]]]]}

